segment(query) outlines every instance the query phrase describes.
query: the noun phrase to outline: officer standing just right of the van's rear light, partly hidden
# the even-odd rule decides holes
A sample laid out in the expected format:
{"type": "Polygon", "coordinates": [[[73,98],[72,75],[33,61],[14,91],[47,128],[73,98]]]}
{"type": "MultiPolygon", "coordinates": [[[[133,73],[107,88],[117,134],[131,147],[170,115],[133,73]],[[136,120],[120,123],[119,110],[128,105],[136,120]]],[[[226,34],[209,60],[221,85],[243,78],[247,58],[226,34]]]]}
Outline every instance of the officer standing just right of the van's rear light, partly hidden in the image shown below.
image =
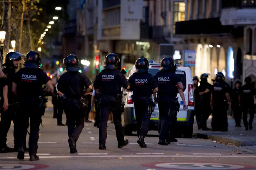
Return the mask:
{"type": "Polygon", "coordinates": [[[195,96],[195,112],[198,130],[201,129],[202,110],[201,110],[201,96],[199,95],[199,79],[197,76],[193,77],[194,82],[194,96],[195,96]]]}

